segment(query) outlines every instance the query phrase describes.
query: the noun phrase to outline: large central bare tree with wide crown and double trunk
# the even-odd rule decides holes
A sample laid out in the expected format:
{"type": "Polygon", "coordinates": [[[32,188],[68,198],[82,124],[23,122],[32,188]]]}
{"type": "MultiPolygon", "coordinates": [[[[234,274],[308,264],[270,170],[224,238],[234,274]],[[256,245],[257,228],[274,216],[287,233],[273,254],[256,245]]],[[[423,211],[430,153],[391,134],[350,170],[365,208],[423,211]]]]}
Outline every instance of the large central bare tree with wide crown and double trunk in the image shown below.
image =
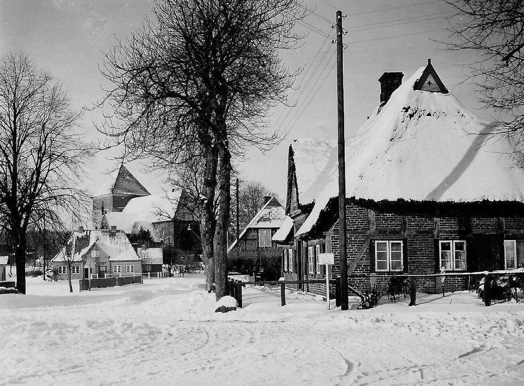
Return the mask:
{"type": "Polygon", "coordinates": [[[232,157],[276,140],[267,111],[286,102],[294,81],[279,50],[297,46],[291,30],[303,10],[300,0],[157,0],[155,20],[106,55],[103,74],[115,88],[103,131],[125,144],[124,156],[153,157],[177,174],[196,160],[217,298],[226,288],[232,157]]]}

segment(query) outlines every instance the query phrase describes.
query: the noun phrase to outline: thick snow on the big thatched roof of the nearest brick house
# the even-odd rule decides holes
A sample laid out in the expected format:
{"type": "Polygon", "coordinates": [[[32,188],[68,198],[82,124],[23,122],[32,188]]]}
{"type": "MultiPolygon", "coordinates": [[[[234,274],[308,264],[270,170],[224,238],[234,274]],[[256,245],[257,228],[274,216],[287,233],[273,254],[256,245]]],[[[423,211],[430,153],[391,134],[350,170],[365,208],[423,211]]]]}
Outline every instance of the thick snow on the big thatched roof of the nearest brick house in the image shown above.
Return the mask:
{"type": "MultiPolygon", "coordinates": [[[[372,200],[524,201],[512,146],[450,93],[413,90],[424,68],[346,143],[346,196],[372,200]]],[[[337,170],[297,235],[338,195],[337,170]]]]}

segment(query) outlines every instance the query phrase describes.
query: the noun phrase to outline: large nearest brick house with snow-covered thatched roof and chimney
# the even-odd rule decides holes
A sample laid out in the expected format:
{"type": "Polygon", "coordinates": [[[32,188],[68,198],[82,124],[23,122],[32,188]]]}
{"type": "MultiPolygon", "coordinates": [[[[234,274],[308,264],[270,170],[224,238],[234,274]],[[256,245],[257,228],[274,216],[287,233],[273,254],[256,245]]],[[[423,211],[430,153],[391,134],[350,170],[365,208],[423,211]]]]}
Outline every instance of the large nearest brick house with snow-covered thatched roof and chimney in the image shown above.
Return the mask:
{"type": "MultiPolygon", "coordinates": [[[[447,91],[430,60],[403,83],[398,72],[379,81],[375,114],[346,144],[348,271],[367,276],[350,284],[385,289],[384,274],[524,266],[524,170],[513,167],[512,146],[447,91]]],[[[315,266],[324,250],[335,254],[333,275],[340,273],[336,163],[329,176],[302,214],[293,215],[291,197],[294,229],[278,235],[293,249],[287,263],[283,255],[286,277],[322,276],[315,266]]],[[[288,199],[289,186],[288,177],[288,199]]],[[[434,292],[438,283],[417,286],[434,292]]]]}

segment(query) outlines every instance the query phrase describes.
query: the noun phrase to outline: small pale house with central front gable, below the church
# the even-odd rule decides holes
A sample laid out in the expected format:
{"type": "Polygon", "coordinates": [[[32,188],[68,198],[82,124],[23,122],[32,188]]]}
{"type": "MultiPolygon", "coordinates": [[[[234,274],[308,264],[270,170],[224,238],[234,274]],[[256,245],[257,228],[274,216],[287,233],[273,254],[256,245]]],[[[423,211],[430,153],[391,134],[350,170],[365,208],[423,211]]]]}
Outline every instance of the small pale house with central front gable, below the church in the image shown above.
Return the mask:
{"type": "Polygon", "coordinates": [[[142,273],[140,259],[122,230],[79,229],[73,232],[51,259],[52,269],[58,272],[60,279],[67,279],[64,261],[70,260],[73,261],[73,279],[89,278],[90,272],[100,278],[142,273]]]}

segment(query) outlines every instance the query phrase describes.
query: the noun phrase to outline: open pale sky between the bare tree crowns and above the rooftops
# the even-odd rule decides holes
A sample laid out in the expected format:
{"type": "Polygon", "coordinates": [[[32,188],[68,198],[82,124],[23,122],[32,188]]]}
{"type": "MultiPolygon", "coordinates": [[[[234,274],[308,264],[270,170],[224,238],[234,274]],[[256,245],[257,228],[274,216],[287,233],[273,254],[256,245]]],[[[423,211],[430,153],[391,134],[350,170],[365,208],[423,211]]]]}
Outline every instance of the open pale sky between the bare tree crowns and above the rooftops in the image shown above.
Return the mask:
{"type": "MultiPolygon", "coordinates": [[[[299,26],[307,33],[303,46],[284,52],[290,68],[304,67],[297,79],[298,91],[290,91],[296,107],[277,108],[270,122],[286,139],[270,152],[253,150],[237,163],[242,178],[257,180],[286,195],[287,148],[293,138],[319,138],[336,142],[336,70],[334,29],[336,9],[348,16],[344,36],[346,134],[351,136],[379,102],[378,78],[385,71],[401,71],[408,79],[428,58],[446,87],[470,110],[480,107],[472,81],[465,80],[467,65],[475,53],[449,51],[440,41],[450,33],[447,17],[453,9],[443,0],[305,0],[314,9],[299,26]],[[461,82],[465,81],[461,84],[461,82]]],[[[73,106],[92,106],[104,95],[98,66],[103,51],[140,27],[149,13],[151,0],[2,0],[0,1],[0,46],[5,52],[24,51],[35,64],[53,74],[69,90],[73,106]]],[[[477,111],[482,117],[488,112],[477,111]]],[[[94,122],[100,111],[85,112],[81,122],[86,135],[99,134],[94,122]]],[[[115,165],[99,155],[89,168],[90,186],[101,173],[115,165]]],[[[142,175],[139,164],[129,170],[152,192],[161,189],[161,178],[142,175]]],[[[102,176],[102,178],[104,178],[102,176]]]]}

